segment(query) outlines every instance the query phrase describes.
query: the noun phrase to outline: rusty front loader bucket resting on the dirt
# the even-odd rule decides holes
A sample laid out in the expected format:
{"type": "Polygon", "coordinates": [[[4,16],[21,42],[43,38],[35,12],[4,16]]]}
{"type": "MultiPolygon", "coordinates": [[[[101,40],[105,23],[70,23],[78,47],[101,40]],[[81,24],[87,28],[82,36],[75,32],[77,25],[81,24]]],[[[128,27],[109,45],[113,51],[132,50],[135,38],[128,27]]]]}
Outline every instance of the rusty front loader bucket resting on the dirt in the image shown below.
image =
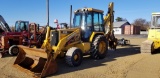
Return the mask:
{"type": "Polygon", "coordinates": [[[57,71],[57,63],[53,54],[43,49],[29,48],[19,45],[19,54],[14,66],[32,76],[45,77],[57,71]]]}

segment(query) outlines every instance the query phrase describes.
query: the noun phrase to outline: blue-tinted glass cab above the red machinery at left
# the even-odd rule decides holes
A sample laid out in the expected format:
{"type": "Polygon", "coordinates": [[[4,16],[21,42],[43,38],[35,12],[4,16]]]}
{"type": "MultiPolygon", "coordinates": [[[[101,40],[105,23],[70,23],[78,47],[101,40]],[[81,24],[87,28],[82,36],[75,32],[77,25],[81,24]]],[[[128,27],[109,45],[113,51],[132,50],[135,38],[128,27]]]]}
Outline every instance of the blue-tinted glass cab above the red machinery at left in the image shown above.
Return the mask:
{"type": "Polygon", "coordinates": [[[28,31],[29,21],[16,21],[15,32],[28,31]]]}

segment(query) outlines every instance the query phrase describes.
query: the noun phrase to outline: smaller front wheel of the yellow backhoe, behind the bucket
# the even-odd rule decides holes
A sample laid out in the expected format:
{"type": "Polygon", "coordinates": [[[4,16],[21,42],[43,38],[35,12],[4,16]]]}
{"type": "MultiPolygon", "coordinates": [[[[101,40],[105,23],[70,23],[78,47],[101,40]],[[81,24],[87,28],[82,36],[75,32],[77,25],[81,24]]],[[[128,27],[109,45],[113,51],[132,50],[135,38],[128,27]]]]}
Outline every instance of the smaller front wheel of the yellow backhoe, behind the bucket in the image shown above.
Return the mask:
{"type": "Polygon", "coordinates": [[[83,60],[82,51],[77,47],[70,48],[66,53],[65,60],[69,66],[79,66],[83,60]]]}

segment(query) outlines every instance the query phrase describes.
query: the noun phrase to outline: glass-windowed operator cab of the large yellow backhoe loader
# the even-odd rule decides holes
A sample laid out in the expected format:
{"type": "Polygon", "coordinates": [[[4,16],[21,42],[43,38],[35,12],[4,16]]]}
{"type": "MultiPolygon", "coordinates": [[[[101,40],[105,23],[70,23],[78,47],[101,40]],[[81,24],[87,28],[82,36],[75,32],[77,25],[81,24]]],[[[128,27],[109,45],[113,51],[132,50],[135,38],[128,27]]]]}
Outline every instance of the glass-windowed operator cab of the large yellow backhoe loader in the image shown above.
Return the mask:
{"type": "Polygon", "coordinates": [[[82,40],[89,41],[92,32],[104,32],[103,11],[82,8],[75,11],[73,27],[82,29],[82,40]]]}

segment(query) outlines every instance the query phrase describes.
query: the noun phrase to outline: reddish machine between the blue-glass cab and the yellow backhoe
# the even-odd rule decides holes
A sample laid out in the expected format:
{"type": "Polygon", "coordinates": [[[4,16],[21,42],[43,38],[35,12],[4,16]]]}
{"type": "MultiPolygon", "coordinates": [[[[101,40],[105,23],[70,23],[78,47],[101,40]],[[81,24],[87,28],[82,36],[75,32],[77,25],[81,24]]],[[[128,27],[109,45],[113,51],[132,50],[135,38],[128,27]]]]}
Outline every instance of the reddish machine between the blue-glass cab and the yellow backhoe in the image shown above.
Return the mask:
{"type": "Polygon", "coordinates": [[[22,43],[25,46],[40,48],[45,39],[45,27],[36,23],[30,23],[28,27],[28,36],[23,37],[22,43]]]}

